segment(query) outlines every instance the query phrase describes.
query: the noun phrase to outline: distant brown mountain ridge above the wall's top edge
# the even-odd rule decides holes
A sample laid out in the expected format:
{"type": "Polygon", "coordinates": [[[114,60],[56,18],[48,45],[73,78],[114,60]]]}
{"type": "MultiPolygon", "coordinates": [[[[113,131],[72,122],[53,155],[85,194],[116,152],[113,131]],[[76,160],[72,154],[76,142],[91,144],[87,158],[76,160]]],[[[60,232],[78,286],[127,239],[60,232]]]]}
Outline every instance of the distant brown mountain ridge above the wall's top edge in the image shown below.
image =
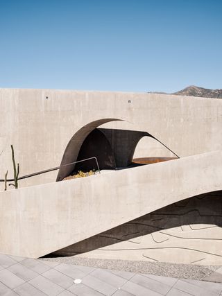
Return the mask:
{"type": "MultiPolygon", "coordinates": [[[[150,92],[151,94],[167,94],[164,92],[150,92]]],[[[173,92],[176,96],[202,96],[203,98],[222,98],[222,89],[205,89],[191,85],[179,92],[173,92]]]]}

